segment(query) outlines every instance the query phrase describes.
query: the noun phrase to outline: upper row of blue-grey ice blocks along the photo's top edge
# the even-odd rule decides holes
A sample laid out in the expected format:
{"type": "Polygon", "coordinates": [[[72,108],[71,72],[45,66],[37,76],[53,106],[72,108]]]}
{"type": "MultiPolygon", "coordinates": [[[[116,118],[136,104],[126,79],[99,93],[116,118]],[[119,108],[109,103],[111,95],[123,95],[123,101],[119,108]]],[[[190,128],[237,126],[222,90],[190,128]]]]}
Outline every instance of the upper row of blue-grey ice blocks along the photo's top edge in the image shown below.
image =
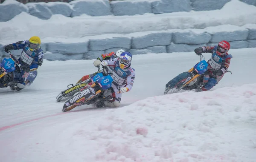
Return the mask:
{"type": "MultiPolygon", "coordinates": [[[[0,4],[0,21],[8,21],[21,12],[27,12],[47,20],[53,14],[76,17],[81,14],[90,16],[136,15],[145,13],[163,14],[180,11],[208,11],[221,9],[230,0],[74,0],[70,3],[10,3],[0,4]],[[8,13],[8,14],[6,14],[8,13]]],[[[256,6],[256,0],[240,0],[256,6]]]]}

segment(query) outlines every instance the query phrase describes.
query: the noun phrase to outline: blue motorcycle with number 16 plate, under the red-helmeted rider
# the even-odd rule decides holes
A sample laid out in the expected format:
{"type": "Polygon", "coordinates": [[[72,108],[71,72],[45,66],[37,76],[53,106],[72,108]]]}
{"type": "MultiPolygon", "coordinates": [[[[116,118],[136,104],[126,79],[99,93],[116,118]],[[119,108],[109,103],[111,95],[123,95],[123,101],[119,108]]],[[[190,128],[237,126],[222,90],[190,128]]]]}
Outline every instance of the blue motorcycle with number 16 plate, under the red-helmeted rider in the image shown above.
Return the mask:
{"type": "MultiPolygon", "coordinates": [[[[166,84],[164,94],[172,94],[180,90],[193,90],[201,88],[203,86],[204,73],[207,70],[208,63],[201,54],[199,63],[195,64],[195,66],[189,71],[177,75],[166,84]]],[[[217,80],[219,81],[222,77],[223,75],[217,78],[217,80]]]]}

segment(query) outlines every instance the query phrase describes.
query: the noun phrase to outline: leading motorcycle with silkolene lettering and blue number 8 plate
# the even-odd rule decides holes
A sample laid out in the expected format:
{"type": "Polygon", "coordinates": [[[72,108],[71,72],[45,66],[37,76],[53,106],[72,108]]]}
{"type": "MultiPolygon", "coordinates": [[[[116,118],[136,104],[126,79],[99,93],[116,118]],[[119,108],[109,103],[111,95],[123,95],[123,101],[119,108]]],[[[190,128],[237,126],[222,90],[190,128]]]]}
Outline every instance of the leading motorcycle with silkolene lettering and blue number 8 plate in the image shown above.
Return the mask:
{"type": "Polygon", "coordinates": [[[69,99],[66,100],[62,108],[63,112],[70,111],[76,106],[90,105],[101,103],[106,100],[111,100],[111,85],[112,85],[111,74],[108,70],[103,68],[103,72],[100,72],[98,67],[98,73],[90,80],[86,80],[87,83],[93,82],[92,85],[84,87],[79,92],[73,94],[69,99]]]}

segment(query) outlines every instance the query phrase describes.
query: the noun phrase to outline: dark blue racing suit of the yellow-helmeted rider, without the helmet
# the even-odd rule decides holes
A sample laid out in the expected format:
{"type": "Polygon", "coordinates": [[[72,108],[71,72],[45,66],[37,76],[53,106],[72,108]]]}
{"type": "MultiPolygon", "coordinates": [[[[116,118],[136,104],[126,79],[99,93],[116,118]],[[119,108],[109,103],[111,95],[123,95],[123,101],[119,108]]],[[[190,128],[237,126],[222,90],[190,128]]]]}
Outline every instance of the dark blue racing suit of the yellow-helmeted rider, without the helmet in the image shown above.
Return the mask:
{"type": "MultiPolygon", "coordinates": [[[[7,50],[18,50],[23,49],[20,54],[20,57],[17,59],[20,63],[20,67],[22,71],[20,72],[19,69],[15,70],[14,79],[17,80],[17,88],[16,90],[21,90],[25,88],[25,78],[28,77],[29,71],[35,71],[38,66],[41,66],[44,60],[44,52],[41,48],[37,48],[34,51],[30,51],[29,49],[29,40],[19,41],[16,43],[12,43],[6,45],[5,51],[7,50]]],[[[33,79],[35,79],[37,75],[33,73],[33,79]]]]}

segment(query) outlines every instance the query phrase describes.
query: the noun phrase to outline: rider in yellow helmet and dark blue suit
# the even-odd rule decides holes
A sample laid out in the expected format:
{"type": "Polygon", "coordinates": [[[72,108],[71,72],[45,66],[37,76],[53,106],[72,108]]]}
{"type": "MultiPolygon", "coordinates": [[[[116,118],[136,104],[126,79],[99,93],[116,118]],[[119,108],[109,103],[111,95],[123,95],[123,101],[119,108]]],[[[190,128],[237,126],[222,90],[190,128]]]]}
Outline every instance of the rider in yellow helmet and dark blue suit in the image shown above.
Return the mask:
{"type": "Polygon", "coordinates": [[[33,80],[35,80],[37,75],[36,69],[38,66],[42,65],[44,60],[44,52],[40,48],[40,45],[41,39],[38,36],[33,36],[29,38],[29,40],[22,40],[5,46],[4,51],[7,53],[10,50],[23,49],[20,58],[18,59],[19,63],[22,65],[21,68],[23,71],[21,73],[15,71],[14,79],[17,80],[17,84],[15,85],[15,88],[11,87],[13,90],[20,91],[25,88],[26,84],[31,84],[33,80]],[[32,73],[33,75],[31,75],[32,73]],[[25,78],[27,78],[26,83],[25,78]]]}

